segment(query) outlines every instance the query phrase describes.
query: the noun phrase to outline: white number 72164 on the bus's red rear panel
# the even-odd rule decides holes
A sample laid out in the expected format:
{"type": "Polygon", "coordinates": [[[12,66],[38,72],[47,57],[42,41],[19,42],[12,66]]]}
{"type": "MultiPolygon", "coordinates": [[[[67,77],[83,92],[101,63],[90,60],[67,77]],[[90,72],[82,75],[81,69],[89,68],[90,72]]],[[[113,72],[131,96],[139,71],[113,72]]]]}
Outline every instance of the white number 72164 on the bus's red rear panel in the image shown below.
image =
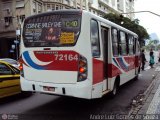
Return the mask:
{"type": "Polygon", "coordinates": [[[72,54],[55,54],[55,60],[58,61],[78,61],[78,55],[72,55],[72,54]]]}

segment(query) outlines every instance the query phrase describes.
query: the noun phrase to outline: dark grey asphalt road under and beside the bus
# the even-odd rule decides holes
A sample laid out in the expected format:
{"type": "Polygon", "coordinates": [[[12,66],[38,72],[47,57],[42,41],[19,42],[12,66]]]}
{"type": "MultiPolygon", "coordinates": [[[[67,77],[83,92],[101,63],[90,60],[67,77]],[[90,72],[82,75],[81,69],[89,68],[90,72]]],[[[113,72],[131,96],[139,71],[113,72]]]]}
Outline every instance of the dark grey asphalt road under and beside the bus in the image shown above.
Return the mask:
{"type": "MultiPolygon", "coordinates": [[[[85,120],[98,119],[101,115],[108,114],[127,115],[132,100],[147,89],[154,73],[154,69],[147,68],[141,72],[139,80],[121,86],[113,99],[109,95],[101,99],[84,100],[39,93],[29,97],[16,95],[4,98],[0,100],[0,120],[4,115],[19,120],[85,120]]],[[[108,116],[105,117],[107,119],[108,116]]]]}

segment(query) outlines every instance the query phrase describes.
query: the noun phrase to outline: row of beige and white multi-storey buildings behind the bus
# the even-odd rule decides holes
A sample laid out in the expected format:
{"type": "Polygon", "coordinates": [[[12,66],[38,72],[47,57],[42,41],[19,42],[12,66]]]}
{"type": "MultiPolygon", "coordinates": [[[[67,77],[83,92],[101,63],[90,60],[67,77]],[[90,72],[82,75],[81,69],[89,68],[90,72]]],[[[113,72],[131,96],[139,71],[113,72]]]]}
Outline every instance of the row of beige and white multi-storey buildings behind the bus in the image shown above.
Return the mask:
{"type": "MultiPolygon", "coordinates": [[[[99,16],[134,11],[134,0],[0,0],[0,58],[18,59],[21,23],[30,15],[59,9],[82,9],[99,16]]],[[[134,14],[126,14],[134,19],[134,14]]]]}

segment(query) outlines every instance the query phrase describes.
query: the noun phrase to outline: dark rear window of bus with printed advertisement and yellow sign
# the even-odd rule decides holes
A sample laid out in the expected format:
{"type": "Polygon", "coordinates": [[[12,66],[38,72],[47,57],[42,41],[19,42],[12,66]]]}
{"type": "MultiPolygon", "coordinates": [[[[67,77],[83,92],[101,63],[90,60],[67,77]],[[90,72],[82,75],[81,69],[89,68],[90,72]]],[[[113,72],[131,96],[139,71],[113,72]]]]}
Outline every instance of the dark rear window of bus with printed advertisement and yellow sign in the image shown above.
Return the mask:
{"type": "Polygon", "coordinates": [[[24,22],[25,47],[74,46],[81,26],[81,15],[47,14],[28,18],[24,22]]]}

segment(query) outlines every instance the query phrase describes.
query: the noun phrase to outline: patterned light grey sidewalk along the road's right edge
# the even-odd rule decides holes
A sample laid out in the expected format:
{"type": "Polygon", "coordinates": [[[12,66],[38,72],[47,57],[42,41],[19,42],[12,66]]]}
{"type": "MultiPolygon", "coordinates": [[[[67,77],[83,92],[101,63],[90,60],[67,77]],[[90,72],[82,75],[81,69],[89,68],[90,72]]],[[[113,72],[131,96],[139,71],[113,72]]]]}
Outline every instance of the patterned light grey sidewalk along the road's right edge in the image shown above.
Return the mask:
{"type": "MultiPolygon", "coordinates": [[[[150,68],[147,67],[146,72],[149,72],[149,69],[150,68]]],[[[156,115],[155,119],[151,119],[160,120],[160,63],[155,65],[155,68],[153,68],[153,73],[154,75],[152,75],[150,72],[148,73],[152,75],[153,81],[143,94],[137,96],[138,99],[135,101],[136,104],[133,105],[132,110],[129,113],[129,116],[139,116],[142,119],[143,115],[149,115],[147,116],[149,118],[154,118],[155,116],[153,115],[156,115]]]]}

